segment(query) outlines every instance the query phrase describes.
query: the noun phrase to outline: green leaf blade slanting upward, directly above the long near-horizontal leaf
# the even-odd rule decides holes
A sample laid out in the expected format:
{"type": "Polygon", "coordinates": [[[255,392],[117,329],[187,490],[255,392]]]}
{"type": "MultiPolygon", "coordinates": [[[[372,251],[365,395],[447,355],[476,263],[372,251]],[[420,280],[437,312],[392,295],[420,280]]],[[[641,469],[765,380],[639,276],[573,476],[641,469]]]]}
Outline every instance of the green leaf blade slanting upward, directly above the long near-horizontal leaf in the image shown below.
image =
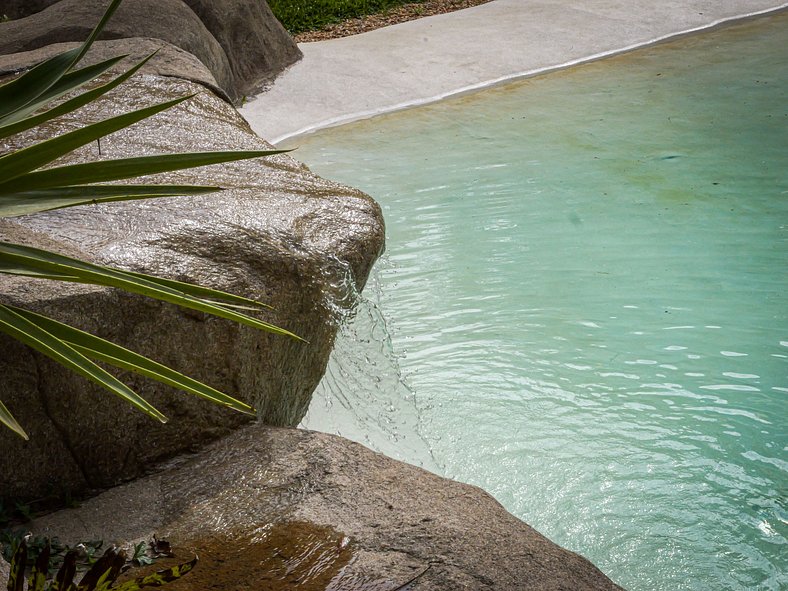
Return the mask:
{"type": "MultiPolygon", "coordinates": [[[[137,109],[136,111],[124,113],[117,117],[110,117],[98,123],[86,125],[81,129],[76,129],[50,140],[38,142],[27,148],[22,148],[21,150],[6,154],[0,157],[0,178],[3,179],[3,187],[7,187],[10,182],[27,172],[49,164],[61,156],[85,144],[94,142],[105,135],[109,135],[120,129],[125,129],[138,121],[147,119],[156,113],[160,113],[178,103],[182,103],[191,98],[191,96],[193,95],[180,97],[151,107],[137,109]]],[[[105,162],[97,162],[96,164],[105,164],[105,162]]],[[[71,185],[74,183],[61,182],[61,184],[71,185]]]]}

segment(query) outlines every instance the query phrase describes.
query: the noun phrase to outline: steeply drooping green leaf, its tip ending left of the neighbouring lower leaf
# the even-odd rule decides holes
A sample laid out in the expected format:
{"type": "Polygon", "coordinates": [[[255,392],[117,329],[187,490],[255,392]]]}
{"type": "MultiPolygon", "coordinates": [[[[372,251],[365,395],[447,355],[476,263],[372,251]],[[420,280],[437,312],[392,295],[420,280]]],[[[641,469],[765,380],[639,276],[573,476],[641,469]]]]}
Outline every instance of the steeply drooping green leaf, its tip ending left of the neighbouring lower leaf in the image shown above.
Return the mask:
{"type": "Polygon", "coordinates": [[[167,422],[163,414],[115,376],[4,304],[0,304],[0,331],[96,382],[162,423],[167,422]]]}

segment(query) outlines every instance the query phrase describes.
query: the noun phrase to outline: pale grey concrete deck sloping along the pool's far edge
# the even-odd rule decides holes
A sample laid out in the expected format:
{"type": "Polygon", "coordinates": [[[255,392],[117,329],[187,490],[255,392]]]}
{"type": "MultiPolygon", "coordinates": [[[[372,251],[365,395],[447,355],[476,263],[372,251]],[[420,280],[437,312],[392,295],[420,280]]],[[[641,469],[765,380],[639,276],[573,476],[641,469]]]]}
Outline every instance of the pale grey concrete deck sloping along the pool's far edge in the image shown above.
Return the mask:
{"type": "Polygon", "coordinates": [[[775,0],[493,0],[302,43],[304,58],[240,111],[277,144],[786,8],[775,0]]]}

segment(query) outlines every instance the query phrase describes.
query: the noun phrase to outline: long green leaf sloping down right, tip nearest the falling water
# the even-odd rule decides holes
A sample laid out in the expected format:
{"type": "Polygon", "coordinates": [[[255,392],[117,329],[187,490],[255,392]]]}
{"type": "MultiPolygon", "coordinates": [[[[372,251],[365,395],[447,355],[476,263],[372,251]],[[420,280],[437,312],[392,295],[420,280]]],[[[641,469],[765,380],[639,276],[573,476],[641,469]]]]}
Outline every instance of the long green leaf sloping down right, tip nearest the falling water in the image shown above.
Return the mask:
{"type": "MultiPolygon", "coordinates": [[[[73,279],[74,281],[80,283],[119,287],[131,293],[138,293],[177,304],[184,308],[207,312],[253,328],[303,341],[299,336],[283,328],[241,314],[219,303],[193,297],[173,289],[168,285],[171,284],[168,280],[161,281],[153,276],[130,274],[110,267],[93,265],[30,246],[0,242],[0,272],[11,272],[8,269],[13,269],[14,267],[27,270],[26,274],[29,275],[34,274],[35,271],[41,271],[48,277],[62,275],[59,278],[63,280],[71,280],[67,278],[73,277],[75,278],[73,279]]],[[[222,292],[217,291],[216,294],[219,295],[217,299],[221,299],[222,292]]]]}

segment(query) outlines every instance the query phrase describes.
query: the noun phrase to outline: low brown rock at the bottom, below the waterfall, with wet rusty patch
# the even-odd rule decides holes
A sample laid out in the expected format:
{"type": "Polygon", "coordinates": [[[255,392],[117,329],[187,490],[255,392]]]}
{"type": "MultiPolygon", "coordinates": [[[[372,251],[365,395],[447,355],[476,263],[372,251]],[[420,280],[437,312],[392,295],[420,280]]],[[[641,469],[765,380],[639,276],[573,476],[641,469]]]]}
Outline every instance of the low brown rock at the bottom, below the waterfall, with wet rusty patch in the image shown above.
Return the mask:
{"type": "Polygon", "coordinates": [[[66,541],[97,535],[128,541],[156,533],[173,544],[179,559],[195,553],[201,559],[173,591],[257,588],[266,567],[283,566],[265,555],[277,550],[303,578],[297,587],[266,588],[383,591],[429,565],[410,589],[620,589],[481,489],[339,437],[262,425],[77,510],[48,516],[32,531],[66,541]],[[290,532],[290,548],[271,544],[277,529],[290,532]],[[330,571],[335,563],[333,586],[312,585],[304,576],[315,566],[309,550],[320,554],[321,568],[330,571]],[[246,569],[247,562],[264,567],[246,569]]]}

